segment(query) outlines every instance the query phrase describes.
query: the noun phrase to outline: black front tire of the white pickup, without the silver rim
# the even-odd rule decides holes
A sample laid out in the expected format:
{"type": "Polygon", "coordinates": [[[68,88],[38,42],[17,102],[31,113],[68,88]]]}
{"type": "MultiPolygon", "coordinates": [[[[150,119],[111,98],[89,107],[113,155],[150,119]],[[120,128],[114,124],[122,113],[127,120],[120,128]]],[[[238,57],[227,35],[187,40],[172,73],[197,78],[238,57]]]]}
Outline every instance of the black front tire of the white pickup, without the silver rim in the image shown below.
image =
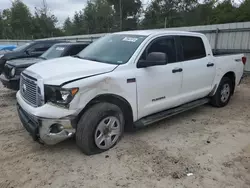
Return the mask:
{"type": "MultiPolygon", "coordinates": [[[[94,155],[110,149],[100,149],[95,143],[95,132],[98,124],[109,116],[116,117],[121,124],[121,134],[116,141],[117,143],[124,132],[124,116],[118,106],[105,102],[95,104],[90,107],[79,120],[76,129],[76,144],[86,155],[94,155]]],[[[114,147],[116,143],[112,147],[114,147]]]]}

